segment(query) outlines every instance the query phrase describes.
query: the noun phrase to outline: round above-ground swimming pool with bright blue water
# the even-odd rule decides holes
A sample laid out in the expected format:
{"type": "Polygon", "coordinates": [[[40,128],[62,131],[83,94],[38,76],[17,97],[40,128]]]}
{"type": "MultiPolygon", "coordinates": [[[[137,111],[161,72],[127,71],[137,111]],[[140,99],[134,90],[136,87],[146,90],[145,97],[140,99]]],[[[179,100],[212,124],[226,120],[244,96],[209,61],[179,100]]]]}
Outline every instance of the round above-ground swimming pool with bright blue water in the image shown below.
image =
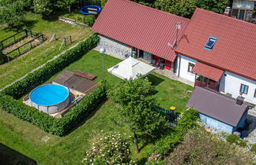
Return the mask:
{"type": "Polygon", "coordinates": [[[38,86],[29,98],[33,107],[46,113],[60,112],[70,104],[69,89],[57,84],[38,86]]]}

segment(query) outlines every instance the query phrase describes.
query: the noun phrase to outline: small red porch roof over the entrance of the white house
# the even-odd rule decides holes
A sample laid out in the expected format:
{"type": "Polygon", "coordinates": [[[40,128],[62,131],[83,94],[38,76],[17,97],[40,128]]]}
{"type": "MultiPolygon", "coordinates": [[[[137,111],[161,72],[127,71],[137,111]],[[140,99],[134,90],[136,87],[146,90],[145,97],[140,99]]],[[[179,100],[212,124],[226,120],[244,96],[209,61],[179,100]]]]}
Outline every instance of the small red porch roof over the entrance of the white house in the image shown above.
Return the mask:
{"type": "Polygon", "coordinates": [[[224,73],[223,70],[211,67],[207,64],[202,64],[201,62],[197,62],[197,64],[194,65],[193,72],[203,75],[209,79],[213,79],[217,82],[220,82],[220,78],[224,73]]]}

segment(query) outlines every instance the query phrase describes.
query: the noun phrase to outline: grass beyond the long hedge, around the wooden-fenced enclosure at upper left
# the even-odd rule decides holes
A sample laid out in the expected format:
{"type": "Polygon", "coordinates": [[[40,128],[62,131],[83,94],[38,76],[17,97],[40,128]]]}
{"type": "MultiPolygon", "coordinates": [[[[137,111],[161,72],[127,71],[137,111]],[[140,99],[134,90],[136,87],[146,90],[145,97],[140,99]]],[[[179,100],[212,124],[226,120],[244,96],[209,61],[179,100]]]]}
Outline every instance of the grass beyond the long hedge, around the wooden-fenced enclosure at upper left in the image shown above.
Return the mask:
{"type": "MultiPolygon", "coordinates": [[[[27,13],[26,18],[28,28],[46,35],[47,41],[30,50],[28,53],[24,53],[21,57],[0,65],[0,89],[32,71],[32,69],[44,64],[58,53],[61,53],[64,49],[92,35],[92,31],[88,27],[73,26],[58,20],[43,20],[40,15],[34,13],[27,13]],[[54,33],[57,35],[58,41],[49,43],[54,33]],[[62,49],[59,50],[63,36],[67,37],[69,35],[72,36],[73,43],[68,46],[63,46],[62,49]]],[[[8,31],[0,26],[0,39],[13,35],[15,32],[16,31],[8,31]]]]}

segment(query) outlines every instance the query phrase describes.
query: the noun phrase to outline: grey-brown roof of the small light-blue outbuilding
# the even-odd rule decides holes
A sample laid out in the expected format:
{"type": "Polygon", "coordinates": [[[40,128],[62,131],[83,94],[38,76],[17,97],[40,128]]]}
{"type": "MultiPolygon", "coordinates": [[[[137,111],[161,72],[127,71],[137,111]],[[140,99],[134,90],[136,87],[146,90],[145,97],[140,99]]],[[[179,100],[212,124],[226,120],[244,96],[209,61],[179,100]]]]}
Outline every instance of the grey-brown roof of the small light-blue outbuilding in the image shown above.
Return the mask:
{"type": "Polygon", "coordinates": [[[236,100],[232,97],[199,86],[195,86],[186,107],[194,108],[206,116],[234,127],[238,125],[243,114],[248,110],[248,105],[237,105],[236,100]]]}

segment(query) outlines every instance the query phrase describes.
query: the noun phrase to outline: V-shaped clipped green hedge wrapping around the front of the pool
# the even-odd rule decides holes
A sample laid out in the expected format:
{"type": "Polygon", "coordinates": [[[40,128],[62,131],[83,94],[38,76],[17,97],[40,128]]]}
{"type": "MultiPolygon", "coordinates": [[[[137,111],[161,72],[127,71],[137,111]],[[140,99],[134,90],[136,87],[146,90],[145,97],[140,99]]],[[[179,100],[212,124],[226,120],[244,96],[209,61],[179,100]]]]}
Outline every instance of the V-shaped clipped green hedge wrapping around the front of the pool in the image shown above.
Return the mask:
{"type": "Polygon", "coordinates": [[[55,119],[46,113],[39,112],[36,108],[24,105],[21,101],[17,101],[5,94],[0,94],[0,109],[33,123],[46,132],[62,136],[72,130],[73,127],[76,127],[81,120],[88,117],[90,112],[96,109],[105,97],[106,86],[105,83],[102,83],[91,94],[85,96],[79,104],[70,108],[70,111],[60,119],[55,119]]]}

